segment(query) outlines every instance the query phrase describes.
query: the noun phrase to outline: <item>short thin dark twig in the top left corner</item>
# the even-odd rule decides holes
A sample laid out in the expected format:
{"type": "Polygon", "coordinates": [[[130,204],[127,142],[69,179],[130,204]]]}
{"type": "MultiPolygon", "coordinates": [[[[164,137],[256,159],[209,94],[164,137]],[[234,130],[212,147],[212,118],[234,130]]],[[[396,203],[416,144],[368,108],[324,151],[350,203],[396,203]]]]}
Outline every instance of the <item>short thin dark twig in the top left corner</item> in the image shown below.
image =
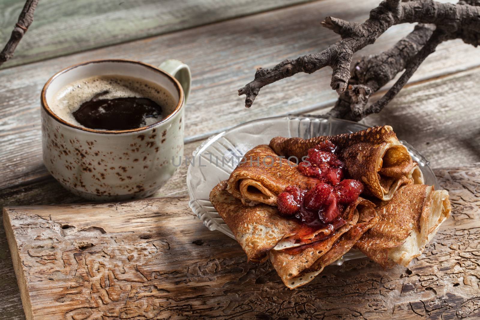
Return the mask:
{"type": "Polygon", "coordinates": [[[12,58],[13,51],[15,51],[20,40],[22,40],[22,37],[27,32],[28,27],[33,22],[33,13],[35,12],[37,4],[38,0],[27,0],[25,2],[24,8],[18,17],[18,22],[15,24],[15,28],[13,28],[12,35],[3,50],[0,52],[0,66],[3,62],[12,58]]]}

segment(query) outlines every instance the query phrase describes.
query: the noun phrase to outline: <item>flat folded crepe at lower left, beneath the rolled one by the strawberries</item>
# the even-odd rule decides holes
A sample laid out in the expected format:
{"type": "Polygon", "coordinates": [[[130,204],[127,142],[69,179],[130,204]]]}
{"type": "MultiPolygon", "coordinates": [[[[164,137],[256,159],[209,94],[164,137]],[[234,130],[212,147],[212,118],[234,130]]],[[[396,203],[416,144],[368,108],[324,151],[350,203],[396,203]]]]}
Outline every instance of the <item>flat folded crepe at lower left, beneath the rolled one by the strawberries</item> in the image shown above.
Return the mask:
{"type": "Polygon", "coordinates": [[[210,201],[232,230],[248,260],[262,259],[281,239],[301,228],[295,220],[279,216],[276,207],[242,205],[227,191],[227,181],[220,182],[210,192],[210,201]]]}

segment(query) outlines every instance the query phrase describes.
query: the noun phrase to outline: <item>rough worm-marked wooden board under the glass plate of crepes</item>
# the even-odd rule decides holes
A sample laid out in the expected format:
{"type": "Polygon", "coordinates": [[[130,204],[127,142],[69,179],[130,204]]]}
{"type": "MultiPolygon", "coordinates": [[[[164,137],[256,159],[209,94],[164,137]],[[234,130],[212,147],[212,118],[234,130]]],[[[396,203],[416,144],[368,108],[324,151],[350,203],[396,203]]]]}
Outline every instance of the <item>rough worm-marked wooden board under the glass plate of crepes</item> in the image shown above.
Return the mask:
{"type": "Polygon", "coordinates": [[[186,198],[10,207],[3,219],[27,319],[476,319],[480,166],[435,173],[453,217],[419,259],[386,271],[348,261],[296,290],[186,198]]]}

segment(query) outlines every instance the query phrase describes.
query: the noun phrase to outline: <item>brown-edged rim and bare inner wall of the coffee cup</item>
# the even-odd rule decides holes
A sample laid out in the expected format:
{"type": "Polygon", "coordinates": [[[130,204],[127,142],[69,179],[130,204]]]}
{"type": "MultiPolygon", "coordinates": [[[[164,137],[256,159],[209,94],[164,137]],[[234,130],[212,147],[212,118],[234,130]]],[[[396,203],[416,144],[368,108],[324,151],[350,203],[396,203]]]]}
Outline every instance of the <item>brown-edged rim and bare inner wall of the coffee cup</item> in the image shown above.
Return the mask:
{"type": "Polygon", "coordinates": [[[82,130],[82,131],[88,131],[88,132],[95,132],[95,133],[103,133],[103,134],[120,134],[120,133],[130,133],[130,132],[140,132],[140,131],[143,131],[143,130],[146,130],[146,129],[150,129],[150,128],[154,128],[156,127],[157,125],[161,124],[161,123],[164,123],[164,122],[167,122],[169,119],[171,119],[175,114],[177,114],[181,107],[183,106],[183,102],[185,100],[185,95],[183,93],[183,88],[182,86],[180,85],[180,83],[178,82],[177,79],[175,79],[175,77],[173,77],[171,74],[169,74],[167,71],[163,71],[159,68],[156,68],[155,66],[151,65],[151,64],[148,64],[148,63],[144,63],[144,62],[141,62],[141,61],[135,61],[135,60],[129,60],[129,59],[95,59],[95,60],[88,60],[88,61],[84,61],[84,62],[81,62],[81,63],[77,63],[77,64],[74,64],[74,65],[71,65],[69,67],[66,67],[60,71],[58,71],[57,73],[55,73],[53,76],[51,76],[50,79],[48,79],[47,83],[45,83],[45,85],[43,86],[43,89],[41,91],[41,94],[40,94],[40,101],[41,101],[41,105],[42,105],[42,108],[47,112],[47,114],[52,117],[53,119],[57,120],[58,122],[60,122],[61,124],[64,124],[66,126],[69,126],[73,129],[77,129],[77,130],[82,130]],[[60,76],[60,74],[63,74],[67,71],[71,71],[75,68],[78,68],[78,67],[81,67],[81,66],[84,66],[84,65],[87,65],[87,64],[91,64],[91,63],[102,63],[102,62],[119,62],[119,63],[132,63],[132,64],[137,64],[137,65],[141,65],[141,66],[144,66],[144,67],[147,67],[153,71],[156,71],[158,73],[161,73],[162,75],[166,76],[172,83],[173,85],[175,86],[175,88],[177,89],[178,91],[178,95],[179,95],[179,102],[177,104],[177,106],[175,107],[175,109],[170,113],[168,114],[167,117],[165,117],[164,119],[161,119],[160,121],[157,121],[155,123],[152,123],[148,126],[144,126],[144,127],[140,127],[140,128],[135,128],[135,129],[128,129],[128,130],[95,130],[95,129],[89,129],[89,128],[84,128],[84,127],[79,127],[79,126],[76,126],[70,122],[67,122],[63,119],[61,119],[59,116],[57,116],[51,109],[50,107],[48,107],[48,103],[47,103],[47,90],[48,90],[48,86],[50,85],[50,83],[52,83],[58,76],[60,76]]]}

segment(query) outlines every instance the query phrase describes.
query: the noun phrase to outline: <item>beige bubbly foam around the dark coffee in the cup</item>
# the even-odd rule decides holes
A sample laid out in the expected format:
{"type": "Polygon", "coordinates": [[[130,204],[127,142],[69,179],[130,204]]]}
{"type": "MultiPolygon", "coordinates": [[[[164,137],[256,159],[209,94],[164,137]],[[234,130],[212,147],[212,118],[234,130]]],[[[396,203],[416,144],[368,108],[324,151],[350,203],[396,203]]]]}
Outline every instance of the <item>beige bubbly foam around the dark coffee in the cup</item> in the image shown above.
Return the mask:
{"type": "Polygon", "coordinates": [[[108,94],[102,95],[101,99],[137,97],[155,101],[162,107],[162,116],[144,118],[147,126],[168,116],[177,104],[173,96],[156,83],[128,76],[101,75],[67,84],[55,95],[48,107],[59,118],[75,126],[85,128],[75,120],[73,112],[82,103],[89,101],[94,95],[103,91],[108,91],[108,94]]]}

